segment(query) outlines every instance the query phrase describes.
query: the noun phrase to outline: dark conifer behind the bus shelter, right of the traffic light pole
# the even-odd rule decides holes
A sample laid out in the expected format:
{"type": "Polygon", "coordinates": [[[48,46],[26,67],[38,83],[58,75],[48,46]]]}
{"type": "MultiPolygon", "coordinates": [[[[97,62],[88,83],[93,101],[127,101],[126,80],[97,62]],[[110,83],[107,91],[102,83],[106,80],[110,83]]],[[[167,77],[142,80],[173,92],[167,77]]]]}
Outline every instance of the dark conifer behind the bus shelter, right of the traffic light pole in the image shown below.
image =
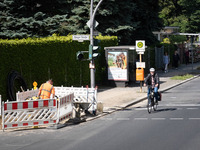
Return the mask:
{"type": "Polygon", "coordinates": [[[158,0],[110,0],[102,3],[96,17],[100,22],[97,29],[117,35],[121,44],[135,44],[140,39],[149,45],[156,41],[152,31],[162,27],[158,12],[158,0]]]}

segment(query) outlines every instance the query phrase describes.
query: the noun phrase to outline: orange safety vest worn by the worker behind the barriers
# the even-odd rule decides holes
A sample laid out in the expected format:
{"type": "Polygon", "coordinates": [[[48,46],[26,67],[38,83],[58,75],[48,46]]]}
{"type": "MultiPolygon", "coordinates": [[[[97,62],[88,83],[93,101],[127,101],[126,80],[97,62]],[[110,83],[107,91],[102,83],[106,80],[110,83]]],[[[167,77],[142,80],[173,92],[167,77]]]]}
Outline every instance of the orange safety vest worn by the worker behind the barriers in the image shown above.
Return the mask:
{"type": "Polygon", "coordinates": [[[55,89],[54,89],[53,85],[51,85],[50,83],[43,83],[40,86],[39,90],[41,91],[41,93],[40,93],[41,99],[49,99],[51,94],[55,95],[55,89]]]}

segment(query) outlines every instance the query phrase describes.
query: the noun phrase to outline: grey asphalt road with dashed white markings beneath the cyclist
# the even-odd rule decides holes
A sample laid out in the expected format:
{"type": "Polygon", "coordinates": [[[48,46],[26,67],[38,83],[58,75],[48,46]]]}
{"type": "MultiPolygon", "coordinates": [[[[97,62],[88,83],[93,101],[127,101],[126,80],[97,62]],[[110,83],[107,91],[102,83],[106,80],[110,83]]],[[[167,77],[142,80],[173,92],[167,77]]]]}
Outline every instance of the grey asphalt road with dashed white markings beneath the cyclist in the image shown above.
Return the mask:
{"type": "Polygon", "coordinates": [[[199,150],[200,78],[162,94],[158,111],[146,101],[59,130],[0,133],[0,150],[199,150]]]}

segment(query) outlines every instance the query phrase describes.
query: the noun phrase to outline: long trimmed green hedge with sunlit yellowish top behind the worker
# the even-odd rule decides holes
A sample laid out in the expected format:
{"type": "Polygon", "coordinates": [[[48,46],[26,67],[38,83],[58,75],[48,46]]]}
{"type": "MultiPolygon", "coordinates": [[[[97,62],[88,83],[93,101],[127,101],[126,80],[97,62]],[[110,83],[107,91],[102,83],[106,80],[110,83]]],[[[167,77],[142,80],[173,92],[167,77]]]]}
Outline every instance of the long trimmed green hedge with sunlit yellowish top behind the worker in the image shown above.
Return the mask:
{"type": "MultiPolygon", "coordinates": [[[[104,47],[118,44],[116,36],[98,36],[101,56],[95,60],[96,83],[106,79],[104,47]]],[[[46,38],[0,40],[0,94],[7,99],[7,76],[12,70],[24,77],[28,88],[52,78],[55,86],[90,85],[89,61],[78,61],[77,51],[88,51],[89,41],[72,40],[72,35],[46,38]]],[[[85,54],[88,57],[88,54],[85,54]]]]}

